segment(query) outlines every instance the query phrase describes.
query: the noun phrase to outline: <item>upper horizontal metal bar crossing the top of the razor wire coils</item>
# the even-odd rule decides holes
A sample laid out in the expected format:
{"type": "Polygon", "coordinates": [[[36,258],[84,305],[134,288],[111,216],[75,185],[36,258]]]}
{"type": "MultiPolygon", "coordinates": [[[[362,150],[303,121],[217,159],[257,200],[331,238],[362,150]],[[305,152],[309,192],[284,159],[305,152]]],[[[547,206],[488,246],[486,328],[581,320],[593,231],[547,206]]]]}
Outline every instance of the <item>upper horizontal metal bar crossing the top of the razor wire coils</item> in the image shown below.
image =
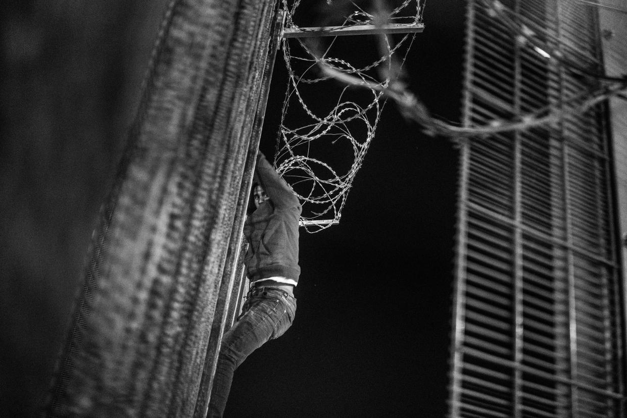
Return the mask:
{"type": "Polygon", "coordinates": [[[284,28],[283,38],[314,38],[315,36],[372,35],[381,33],[416,33],[423,23],[357,24],[353,26],[320,26],[319,28],[284,28]]]}

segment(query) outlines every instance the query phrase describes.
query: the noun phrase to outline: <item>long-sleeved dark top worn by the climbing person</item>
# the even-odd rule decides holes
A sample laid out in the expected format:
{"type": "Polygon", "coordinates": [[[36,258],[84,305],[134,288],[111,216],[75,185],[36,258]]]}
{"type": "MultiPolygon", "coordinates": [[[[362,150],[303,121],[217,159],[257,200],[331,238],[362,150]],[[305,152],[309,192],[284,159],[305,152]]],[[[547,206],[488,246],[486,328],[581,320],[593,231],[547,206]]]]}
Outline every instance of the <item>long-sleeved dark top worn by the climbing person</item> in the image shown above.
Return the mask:
{"type": "Polygon", "coordinates": [[[255,180],[270,200],[260,204],[244,225],[248,279],[253,282],[280,276],[298,283],[298,219],[302,211],[298,197],[261,152],[255,180]]]}

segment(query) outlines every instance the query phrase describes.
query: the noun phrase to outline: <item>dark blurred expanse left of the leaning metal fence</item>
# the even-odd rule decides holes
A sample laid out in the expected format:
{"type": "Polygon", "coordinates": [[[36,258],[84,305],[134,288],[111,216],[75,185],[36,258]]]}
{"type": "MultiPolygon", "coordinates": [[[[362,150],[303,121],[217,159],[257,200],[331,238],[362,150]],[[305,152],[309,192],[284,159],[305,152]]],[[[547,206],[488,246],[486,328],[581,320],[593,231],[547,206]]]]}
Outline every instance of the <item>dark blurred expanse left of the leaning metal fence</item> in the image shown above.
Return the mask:
{"type": "Polygon", "coordinates": [[[3,2],[2,416],[48,390],[166,2],[3,2]]]}

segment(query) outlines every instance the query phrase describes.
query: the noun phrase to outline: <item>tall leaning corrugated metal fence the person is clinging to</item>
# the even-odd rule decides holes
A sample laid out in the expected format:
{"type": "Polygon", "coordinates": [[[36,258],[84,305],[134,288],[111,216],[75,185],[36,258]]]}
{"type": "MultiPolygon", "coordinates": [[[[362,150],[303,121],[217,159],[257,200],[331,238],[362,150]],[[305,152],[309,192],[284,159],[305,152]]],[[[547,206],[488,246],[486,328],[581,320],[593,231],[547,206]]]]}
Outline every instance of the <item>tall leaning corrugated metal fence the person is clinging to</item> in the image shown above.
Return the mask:
{"type": "Polygon", "coordinates": [[[169,2],[47,416],[206,416],[239,289],[277,9],[169,2]]]}

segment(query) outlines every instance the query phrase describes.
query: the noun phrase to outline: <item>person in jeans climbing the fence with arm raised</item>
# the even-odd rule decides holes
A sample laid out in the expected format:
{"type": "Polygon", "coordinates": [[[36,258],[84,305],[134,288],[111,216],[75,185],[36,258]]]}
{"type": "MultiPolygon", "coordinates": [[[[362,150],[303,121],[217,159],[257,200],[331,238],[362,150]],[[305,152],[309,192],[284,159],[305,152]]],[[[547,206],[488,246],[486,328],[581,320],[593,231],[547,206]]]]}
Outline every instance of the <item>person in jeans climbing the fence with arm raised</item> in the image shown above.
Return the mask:
{"type": "Polygon", "coordinates": [[[300,201],[261,152],[257,155],[252,189],[256,209],[244,226],[250,291],[238,320],[224,333],[221,342],[209,417],[224,414],[235,369],[268,340],[283,335],[296,313],[293,287],[300,276],[300,201]]]}

